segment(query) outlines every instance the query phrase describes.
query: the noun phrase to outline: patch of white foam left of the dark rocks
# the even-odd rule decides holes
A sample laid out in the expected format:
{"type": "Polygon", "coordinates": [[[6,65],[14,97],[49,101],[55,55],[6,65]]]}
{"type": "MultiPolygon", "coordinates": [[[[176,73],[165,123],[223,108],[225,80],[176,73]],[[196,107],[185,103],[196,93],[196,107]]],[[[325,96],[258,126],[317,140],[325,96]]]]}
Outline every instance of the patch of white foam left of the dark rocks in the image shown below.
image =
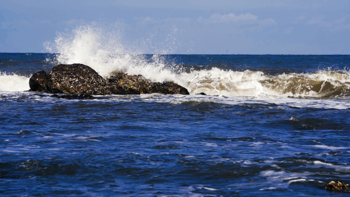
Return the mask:
{"type": "Polygon", "coordinates": [[[0,84],[0,91],[27,91],[30,89],[29,78],[16,74],[0,73],[0,84]]]}

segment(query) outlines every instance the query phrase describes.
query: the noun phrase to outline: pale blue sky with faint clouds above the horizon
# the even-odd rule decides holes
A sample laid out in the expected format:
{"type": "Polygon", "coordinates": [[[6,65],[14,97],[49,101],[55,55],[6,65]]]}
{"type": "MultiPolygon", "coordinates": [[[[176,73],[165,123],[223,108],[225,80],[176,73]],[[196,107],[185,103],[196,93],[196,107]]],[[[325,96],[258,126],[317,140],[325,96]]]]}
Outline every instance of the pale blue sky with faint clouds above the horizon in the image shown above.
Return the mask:
{"type": "Polygon", "coordinates": [[[0,52],[91,24],[141,53],[350,54],[348,0],[0,1],[0,52]]]}

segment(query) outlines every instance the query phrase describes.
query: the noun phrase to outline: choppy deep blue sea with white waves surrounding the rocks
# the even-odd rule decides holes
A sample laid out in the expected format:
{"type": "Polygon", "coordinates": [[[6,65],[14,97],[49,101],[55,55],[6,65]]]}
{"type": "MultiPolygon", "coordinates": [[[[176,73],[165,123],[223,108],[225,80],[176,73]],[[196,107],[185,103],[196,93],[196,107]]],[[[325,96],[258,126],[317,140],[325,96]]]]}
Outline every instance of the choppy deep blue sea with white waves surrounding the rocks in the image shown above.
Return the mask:
{"type": "Polygon", "coordinates": [[[348,196],[350,55],[74,50],[0,53],[1,196],[348,196]],[[28,92],[59,63],[190,95],[28,92]]]}

